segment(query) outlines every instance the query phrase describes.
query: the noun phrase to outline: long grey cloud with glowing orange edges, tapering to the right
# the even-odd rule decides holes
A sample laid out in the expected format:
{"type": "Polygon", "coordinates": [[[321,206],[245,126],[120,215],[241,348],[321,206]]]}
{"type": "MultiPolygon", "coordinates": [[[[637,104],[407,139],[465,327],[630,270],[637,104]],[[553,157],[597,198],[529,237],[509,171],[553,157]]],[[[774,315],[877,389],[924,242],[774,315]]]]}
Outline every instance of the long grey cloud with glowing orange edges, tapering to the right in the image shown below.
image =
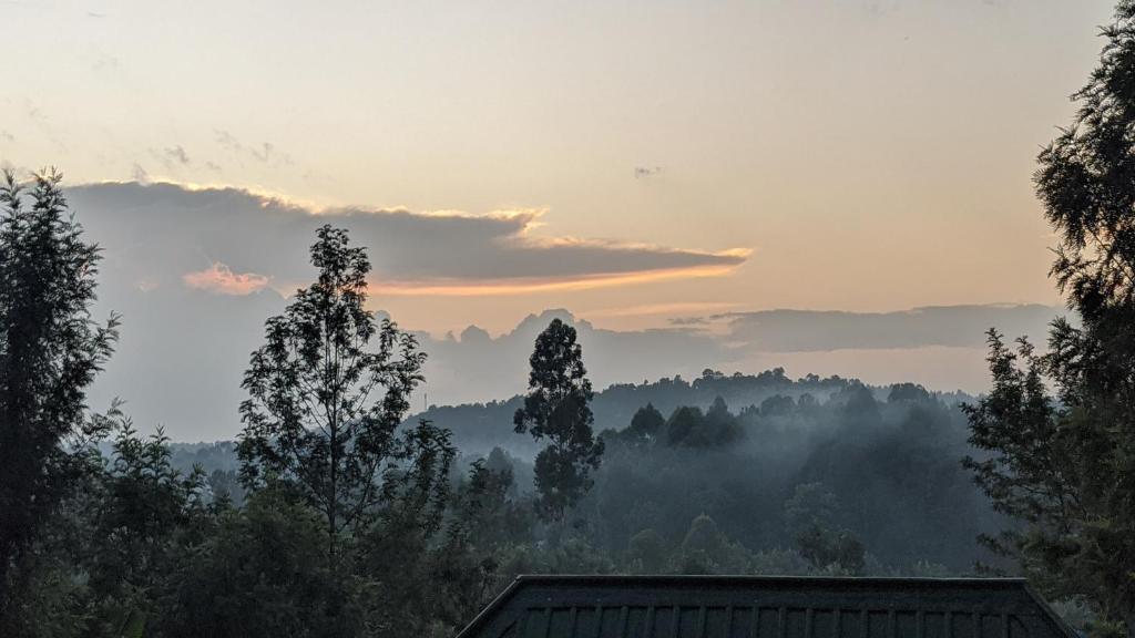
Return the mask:
{"type": "MultiPolygon", "coordinates": [[[[537,237],[531,230],[540,212],[530,210],[482,216],[359,208],[317,211],[238,188],[175,184],[96,184],[72,188],[69,194],[79,218],[107,249],[108,260],[138,270],[137,276],[162,280],[216,266],[270,278],[274,285],[299,284],[310,276],[306,246],[314,228],[325,223],[350,228],[355,242],[370,249],[379,285],[402,292],[420,286],[424,294],[494,294],[533,286],[720,275],[748,257],[746,250],[705,252],[537,237]]],[[[205,276],[193,280],[204,282],[205,276]]]]}

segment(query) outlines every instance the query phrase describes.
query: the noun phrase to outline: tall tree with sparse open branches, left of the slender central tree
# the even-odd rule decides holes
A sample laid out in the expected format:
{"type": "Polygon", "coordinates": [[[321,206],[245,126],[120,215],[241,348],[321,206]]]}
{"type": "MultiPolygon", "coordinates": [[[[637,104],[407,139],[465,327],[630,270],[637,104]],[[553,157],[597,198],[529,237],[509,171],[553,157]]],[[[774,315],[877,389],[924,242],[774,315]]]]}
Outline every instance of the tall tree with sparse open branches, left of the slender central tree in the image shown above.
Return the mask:
{"type": "Polygon", "coordinates": [[[343,229],[317,235],[319,278],[268,320],[252,353],[238,453],[246,485],[284,480],[323,514],[334,562],[338,536],[384,506],[442,496],[454,450],[427,421],[397,433],[426,355],[365,310],[365,250],[343,229]]]}

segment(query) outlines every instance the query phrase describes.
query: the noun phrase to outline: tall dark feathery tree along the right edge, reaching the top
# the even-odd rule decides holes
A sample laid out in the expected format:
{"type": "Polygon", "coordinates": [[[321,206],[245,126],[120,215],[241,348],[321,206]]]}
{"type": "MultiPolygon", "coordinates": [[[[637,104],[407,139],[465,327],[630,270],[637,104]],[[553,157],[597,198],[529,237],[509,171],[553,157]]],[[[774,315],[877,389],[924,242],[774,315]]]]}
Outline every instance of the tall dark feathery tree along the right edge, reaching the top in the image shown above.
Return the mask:
{"type": "Polygon", "coordinates": [[[1046,355],[990,333],[993,389],[969,408],[970,442],[990,454],[966,465],[1026,523],[986,544],[1135,637],[1135,2],[1102,33],[1075,121],[1035,176],[1059,237],[1051,274],[1079,326],[1056,321],[1046,355]]]}

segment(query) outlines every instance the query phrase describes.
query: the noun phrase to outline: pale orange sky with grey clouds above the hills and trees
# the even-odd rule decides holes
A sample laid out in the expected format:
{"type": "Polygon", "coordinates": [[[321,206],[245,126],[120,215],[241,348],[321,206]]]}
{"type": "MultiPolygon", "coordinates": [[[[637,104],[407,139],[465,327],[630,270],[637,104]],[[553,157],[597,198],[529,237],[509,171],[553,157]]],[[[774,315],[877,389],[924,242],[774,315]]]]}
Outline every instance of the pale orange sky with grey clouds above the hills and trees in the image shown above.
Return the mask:
{"type": "Polygon", "coordinates": [[[1111,11],[6,0],[0,162],[66,175],[126,321],[96,398],[175,437],[235,431],[238,388],[208,413],[184,388],[238,381],[323,221],[371,249],[372,308],[438,353],[443,402],[522,392],[504,351],[442,353],[554,309],[628,344],[591,366],[608,383],[785,364],[980,392],[981,321],[1060,312],[1031,177],[1111,11]],[[922,336],[857,328],[894,318],[922,336]]]}

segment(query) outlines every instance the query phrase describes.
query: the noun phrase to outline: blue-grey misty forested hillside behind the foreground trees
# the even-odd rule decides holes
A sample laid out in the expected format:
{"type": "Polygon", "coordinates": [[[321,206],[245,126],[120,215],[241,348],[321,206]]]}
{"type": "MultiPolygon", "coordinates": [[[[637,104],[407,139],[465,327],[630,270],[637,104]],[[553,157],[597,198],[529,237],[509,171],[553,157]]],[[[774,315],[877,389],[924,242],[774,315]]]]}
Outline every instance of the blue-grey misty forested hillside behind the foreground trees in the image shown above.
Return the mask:
{"type": "MultiPolygon", "coordinates": [[[[974,539],[1004,521],[960,465],[973,453],[962,398],[911,384],[792,380],[780,369],[612,386],[592,402],[606,453],[574,524],[609,569],[634,560],[628,553],[649,538],[665,556],[651,565],[663,571],[826,568],[799,554],[796,527],[804,515],[863,545],[865,562],[855,573],[972,573],[990,559],[974,539]],[[738,553],[683,566],[680,547],[697,520],[712,521],[738,553]]],[[[461,454],[454,485],[470,463],[486,460],[511,472],[511,498],[531,497],[538,446],[513,431],[521,403],[432,406],[421,414],[453,433],[461,454]]],[[[171,450],[183,471],[196,464],[215,490],[241,498],[234,444],[171,450]]],[[[535,532],[512,542],[528,545],[535,532]]]]}

